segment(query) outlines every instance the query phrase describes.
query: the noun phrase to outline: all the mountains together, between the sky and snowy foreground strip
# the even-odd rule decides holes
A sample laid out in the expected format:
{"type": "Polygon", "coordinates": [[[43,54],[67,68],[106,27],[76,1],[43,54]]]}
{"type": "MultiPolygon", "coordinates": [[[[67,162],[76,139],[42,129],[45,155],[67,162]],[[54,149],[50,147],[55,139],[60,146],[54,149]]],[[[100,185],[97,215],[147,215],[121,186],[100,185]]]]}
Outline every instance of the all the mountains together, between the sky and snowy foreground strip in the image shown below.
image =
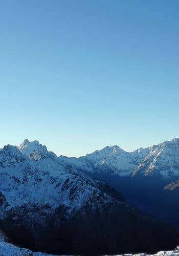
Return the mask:
{"type": "Polygon", "coordinates": [[[172,249],[179,242],[177,186],[171,189],[178,150],[174,139],[68,158],[38,141],[7,145],[0,151],[0,229],[17,245],[56,254],[172,249]]]}

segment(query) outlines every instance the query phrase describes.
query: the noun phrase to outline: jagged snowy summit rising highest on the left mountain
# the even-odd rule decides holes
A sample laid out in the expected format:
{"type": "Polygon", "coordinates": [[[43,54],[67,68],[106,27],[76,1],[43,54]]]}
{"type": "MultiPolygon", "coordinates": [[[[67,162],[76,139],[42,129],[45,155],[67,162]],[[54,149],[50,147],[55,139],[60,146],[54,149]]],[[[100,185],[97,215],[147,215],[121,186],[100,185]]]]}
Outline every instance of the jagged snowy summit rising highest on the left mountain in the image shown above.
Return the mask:
{"type": "Polygon", "coordinates": [[[29,141],[25,139],[23,143],[18,146],[19,151],[30,157],[33,151],[41,152],[43,155],[49,156],[50,158],[56,158],[57,156],[53,152],[47,150],[47,146],[40,144],[37,140],[29,141]]]}

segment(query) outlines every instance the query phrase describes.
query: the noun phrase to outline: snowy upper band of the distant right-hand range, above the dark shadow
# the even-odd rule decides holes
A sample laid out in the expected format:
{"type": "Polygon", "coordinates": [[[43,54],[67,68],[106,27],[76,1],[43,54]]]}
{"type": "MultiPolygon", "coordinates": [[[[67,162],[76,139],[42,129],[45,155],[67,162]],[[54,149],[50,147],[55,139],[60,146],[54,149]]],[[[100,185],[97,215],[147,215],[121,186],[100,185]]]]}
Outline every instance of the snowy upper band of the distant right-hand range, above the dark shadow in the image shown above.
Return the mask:
{"type": "Polygon", "coordinates": [[[119,146],[107,146],[84,157],[60,156],[59,161],[87,172],[106,172],[119,176],[179,176],[179,139],[148,148],[125,152],[119,146]]]}

